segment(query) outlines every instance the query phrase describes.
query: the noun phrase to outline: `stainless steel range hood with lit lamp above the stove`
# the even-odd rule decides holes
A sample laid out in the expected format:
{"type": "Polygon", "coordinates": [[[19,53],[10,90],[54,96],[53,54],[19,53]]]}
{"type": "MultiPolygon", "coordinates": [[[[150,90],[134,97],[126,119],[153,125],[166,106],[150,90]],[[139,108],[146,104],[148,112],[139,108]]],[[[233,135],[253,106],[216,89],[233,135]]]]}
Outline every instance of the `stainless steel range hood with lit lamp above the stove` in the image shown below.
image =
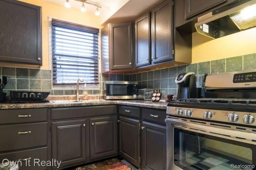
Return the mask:
{"type": "Polygon", "coordinates": [[[220,38],[256,26],[256,0],[236,0],[198,18],[199,34],[220,38]]]}

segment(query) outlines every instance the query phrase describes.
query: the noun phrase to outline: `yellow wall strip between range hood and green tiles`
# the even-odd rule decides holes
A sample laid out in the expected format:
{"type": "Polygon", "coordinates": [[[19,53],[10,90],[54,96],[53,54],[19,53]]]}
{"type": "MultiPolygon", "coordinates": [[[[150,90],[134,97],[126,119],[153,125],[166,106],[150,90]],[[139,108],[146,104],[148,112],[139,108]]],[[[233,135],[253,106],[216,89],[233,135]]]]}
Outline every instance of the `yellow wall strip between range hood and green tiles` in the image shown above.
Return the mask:
{"type": "Polygon", "coordinates": [[[256,53],[256,28],[218,39],[192,34],[192,63],[256,53]]]}

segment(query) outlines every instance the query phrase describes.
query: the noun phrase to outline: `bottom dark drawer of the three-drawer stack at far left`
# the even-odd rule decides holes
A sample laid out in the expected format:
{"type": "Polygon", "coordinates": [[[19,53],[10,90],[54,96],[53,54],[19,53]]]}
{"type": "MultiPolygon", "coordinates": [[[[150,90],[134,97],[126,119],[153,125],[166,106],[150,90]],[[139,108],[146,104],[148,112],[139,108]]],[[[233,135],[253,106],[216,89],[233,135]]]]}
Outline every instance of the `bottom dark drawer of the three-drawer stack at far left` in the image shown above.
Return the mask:
{"type": "MultiPolygon", "coordinates": [[[[47,147],[31,149],[31,150],[22,150],[18,152],[10,152],[7,154],[0,154],[0,162],[2,160],[8,159],[9,161],[18,161],[19,170],[46,170],[46,166],[38,166],[38,160],[47,161],[47,147]],[[30,160],[30,166],[28,164],[28,160],[30,160]],[[34,162],[35,160],[35,162],[34,162]],[[34,166],[35,165],[35,166],[34,166]]],[[[4,160],[4,162],[6,162],[4,160]]],[[[40,163],[40,162],[39,162],[40,163]]]]}

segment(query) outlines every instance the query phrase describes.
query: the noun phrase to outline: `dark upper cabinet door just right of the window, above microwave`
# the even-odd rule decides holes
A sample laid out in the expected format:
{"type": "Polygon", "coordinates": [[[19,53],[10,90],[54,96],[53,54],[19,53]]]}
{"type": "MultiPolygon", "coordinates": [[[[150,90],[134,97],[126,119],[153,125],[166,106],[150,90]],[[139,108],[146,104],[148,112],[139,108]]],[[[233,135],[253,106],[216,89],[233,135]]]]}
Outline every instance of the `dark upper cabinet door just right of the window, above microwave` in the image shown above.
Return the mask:
{"type": "Polygon", "coordinates": [[[133,68],[132,23],[110,24],[111,69],[133,68]]]}

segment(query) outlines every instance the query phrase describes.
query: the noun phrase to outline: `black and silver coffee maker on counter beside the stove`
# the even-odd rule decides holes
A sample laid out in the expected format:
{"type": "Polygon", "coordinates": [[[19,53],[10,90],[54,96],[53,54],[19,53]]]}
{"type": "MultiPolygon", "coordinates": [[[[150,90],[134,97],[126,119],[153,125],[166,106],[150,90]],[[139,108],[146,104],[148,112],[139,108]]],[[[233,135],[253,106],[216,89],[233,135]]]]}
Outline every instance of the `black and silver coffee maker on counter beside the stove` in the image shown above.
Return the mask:
{"type": "Polygon", "coordinates": [[[202,87],[196,87],[196,75],[194,72],[181,73],[176,79],[178,83],[178,97],[177,99],[194,99],[202,98],[202,87]]]}

